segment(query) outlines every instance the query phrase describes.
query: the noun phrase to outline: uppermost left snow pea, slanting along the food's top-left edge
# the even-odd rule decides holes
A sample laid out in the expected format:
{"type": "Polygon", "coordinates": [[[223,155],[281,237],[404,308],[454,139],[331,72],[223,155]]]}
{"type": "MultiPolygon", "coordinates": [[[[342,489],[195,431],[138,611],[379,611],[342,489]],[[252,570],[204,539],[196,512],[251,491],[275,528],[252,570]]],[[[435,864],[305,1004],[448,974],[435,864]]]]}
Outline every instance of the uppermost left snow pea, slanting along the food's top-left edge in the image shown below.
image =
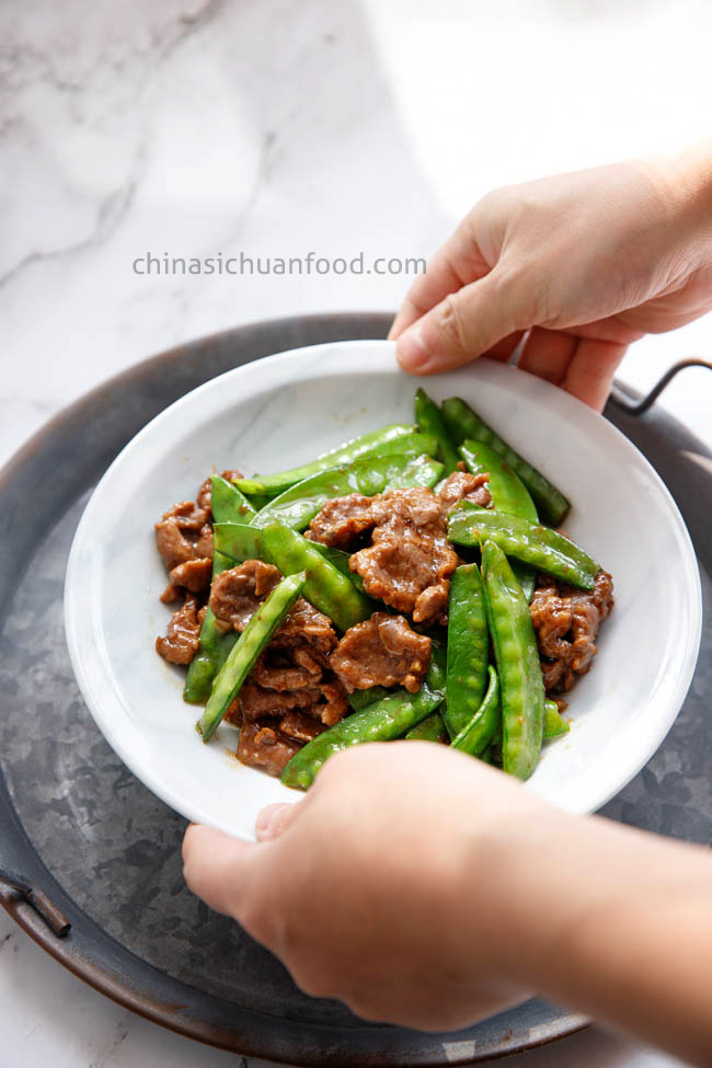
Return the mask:
{"type": "Polygon", "coordinates": [[[318,474],[319,471],[326,471],[329,468],[338,467],[342,463],[353,463],[361,456],[386,456],[409,451],[411,456],[420,456],[422,452],[432,455],[436,450],[437,441],[430,435],[417,434],[413,426],[405,423],[393,423],[391,426],[381,427],[379,430],[371,430],[370,434],[361,434],[360,437],[322,453],[310,463],[303,463],[301,467],[291,468],[288,471],[279,471],[276,474],[239,479],[236,485],[250,497],[257,493],[266,493],[271,497],[276,497],[278,493],[284,493],[296,482],[301,482],[312,474],[318,474]]]}

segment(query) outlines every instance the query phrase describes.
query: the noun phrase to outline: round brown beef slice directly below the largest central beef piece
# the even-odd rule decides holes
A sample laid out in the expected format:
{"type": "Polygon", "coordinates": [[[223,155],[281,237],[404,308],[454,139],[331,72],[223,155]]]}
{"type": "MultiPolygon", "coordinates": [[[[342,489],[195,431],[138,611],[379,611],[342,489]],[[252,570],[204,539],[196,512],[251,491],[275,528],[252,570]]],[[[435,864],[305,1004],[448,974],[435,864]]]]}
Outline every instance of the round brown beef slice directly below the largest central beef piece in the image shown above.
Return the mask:
{"type": "Polygon", "coordinates": [[[403,616],[374,612],[346,631],[330,663],[348,693],[398,685],[416,693],[430,663],[430,639],[411,630],[403,616]]]}

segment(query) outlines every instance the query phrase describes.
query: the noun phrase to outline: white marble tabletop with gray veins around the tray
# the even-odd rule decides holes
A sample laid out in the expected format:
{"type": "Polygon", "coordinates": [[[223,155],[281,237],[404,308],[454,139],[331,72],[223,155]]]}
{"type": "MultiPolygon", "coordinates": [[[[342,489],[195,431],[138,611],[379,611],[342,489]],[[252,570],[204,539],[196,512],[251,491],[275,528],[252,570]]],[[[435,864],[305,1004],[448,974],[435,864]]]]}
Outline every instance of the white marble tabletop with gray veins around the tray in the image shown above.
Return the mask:
{"type": "MultiPolygon", "coordinates": [[[[704,0],[8,0],[0,9],[0,460],[153,352],[299,311],[391,309],[398,276],[140,277],[135,257],[427,255],[491,186],[709,129],[704,0]]],[[[712,352],[646,338],[644,388],[712,352]]],[[[712,441],[710,382],[666,404],[712,441]]],[[[0,1065],[234,1064],[133,1017],[0,915],[0,1065]]],[[[592,1032],[527,1068],[663,1068],[592,1032]]]]}

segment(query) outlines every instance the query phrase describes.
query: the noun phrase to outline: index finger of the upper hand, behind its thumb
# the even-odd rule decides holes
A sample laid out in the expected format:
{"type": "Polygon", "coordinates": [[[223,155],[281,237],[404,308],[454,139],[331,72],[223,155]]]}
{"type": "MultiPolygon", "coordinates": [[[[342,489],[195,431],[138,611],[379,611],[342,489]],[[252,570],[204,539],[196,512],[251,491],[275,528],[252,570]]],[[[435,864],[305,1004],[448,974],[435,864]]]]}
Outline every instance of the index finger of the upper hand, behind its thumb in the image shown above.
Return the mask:
{"type": "Polygon", "coordinates": [[[404,330],[448,296],[457,292],[490,271],[478,245],[471,217],[460,222],[445,244],[427,264],[425,274],[418,275],[407,291],[403,306],[389,331],[394,341],[404,330]]]}

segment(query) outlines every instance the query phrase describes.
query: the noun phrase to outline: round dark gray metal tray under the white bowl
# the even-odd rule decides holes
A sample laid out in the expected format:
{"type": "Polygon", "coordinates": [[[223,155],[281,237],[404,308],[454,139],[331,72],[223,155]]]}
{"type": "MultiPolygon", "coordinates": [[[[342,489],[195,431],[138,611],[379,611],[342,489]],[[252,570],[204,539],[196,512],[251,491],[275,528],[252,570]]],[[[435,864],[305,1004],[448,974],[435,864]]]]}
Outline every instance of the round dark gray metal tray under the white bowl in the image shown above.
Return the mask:
{"type": "MultiPolygon", "coordinates": [[[[186,390],[230,367],[305,344],[380,337],[389,321],[289,319],[157,356],[64,412],[0,474],[0,866],[15,873],[14,889],[0,884],[0,903],[49,953],[120,1003],[192,1037],[288,1064],[471,1064],[585,1024],[533,1000],[466,1032],[423,1035],[366,1024],[337,1002],[302,995],[271,954],[187,893],[180,859],[185,822],[104,742],[69,665],[67,554],[90,487],[126,441],[186,390]],[[51,905],[71,925],[64,937],[51,905]]],[[[659,414],[634,418],[615,407],[608,414],[681,507],[703,573],[705,631],[673,732],[605,811],[708,842],[712,479],[692,457],[709,453],[659,414]]]]}

